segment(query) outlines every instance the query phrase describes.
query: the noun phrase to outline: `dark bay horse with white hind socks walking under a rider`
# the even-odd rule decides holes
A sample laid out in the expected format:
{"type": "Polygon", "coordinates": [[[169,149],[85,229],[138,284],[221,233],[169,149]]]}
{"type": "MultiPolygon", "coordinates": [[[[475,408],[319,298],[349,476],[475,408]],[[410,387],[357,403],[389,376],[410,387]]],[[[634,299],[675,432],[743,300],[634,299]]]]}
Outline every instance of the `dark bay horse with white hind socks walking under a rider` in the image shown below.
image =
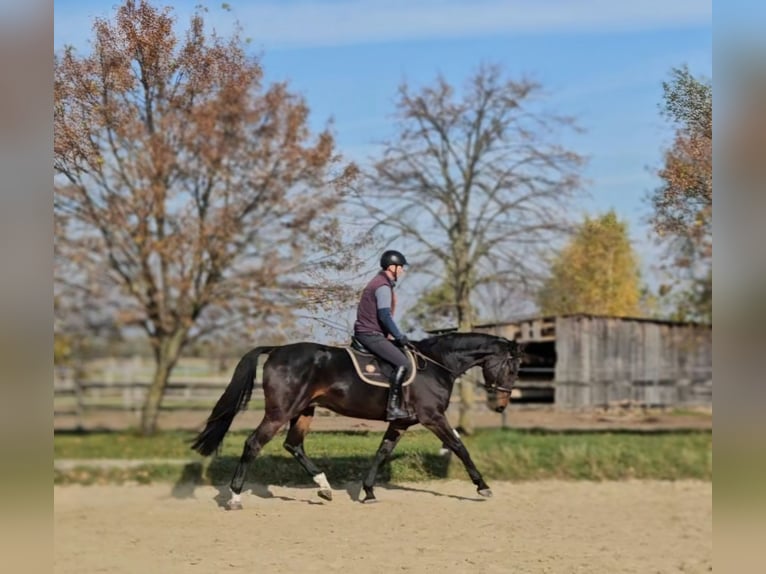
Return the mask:
{"type": "MultiPolygon", "coordinates": [[[[447,333],[411,341],[409,349],[417,358],[417,372],[407,393],[411,416],[391,422],[362,482],[361,502],[375,502],[373,485],[379,467],[391,456],[403,433],[420,423],[434,433],[443,445],[462,461],[480,496],[492,491],[476,469],[459,435],[447,420],[445,411],[457,377],[472,367],[481,367],[487,404],[496,412],[508,405],[518,377],[521,345],[503,337],[484,333],[447,333]]],[[[325,474],[303,449],[315,407],[340,415],[385,420],[388,389],[365,383],[357,372],[347,348],[313,342],[261,346],[247,352],[237,364],[231,382],[213,407],[205,428],[191,448],[203,456],[218,450],[235,415],[250,400],[255,384],[258,358],[268,354],[263,366],[265,413],[257,428],[245,440],[242,456],[231,479],[228,508],[241,509],[240,494],[250,463],[276,433],[289,422],[284,448],[311,475],[319,486],[318,495],[332,500],[325,474]]]]}

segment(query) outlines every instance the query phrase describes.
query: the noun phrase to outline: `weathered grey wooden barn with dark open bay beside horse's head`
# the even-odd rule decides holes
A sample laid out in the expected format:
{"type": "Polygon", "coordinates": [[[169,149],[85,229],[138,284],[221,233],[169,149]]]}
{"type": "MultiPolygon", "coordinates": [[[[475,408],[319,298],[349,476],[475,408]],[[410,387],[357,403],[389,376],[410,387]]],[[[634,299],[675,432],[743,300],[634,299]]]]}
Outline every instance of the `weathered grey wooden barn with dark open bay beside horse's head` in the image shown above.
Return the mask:
{"type": "Polygon", "coordinates": [[[561,409],[713,404],[710,325],[578,314],[474,330],[526,344],[514,402],[561,409]]]}

